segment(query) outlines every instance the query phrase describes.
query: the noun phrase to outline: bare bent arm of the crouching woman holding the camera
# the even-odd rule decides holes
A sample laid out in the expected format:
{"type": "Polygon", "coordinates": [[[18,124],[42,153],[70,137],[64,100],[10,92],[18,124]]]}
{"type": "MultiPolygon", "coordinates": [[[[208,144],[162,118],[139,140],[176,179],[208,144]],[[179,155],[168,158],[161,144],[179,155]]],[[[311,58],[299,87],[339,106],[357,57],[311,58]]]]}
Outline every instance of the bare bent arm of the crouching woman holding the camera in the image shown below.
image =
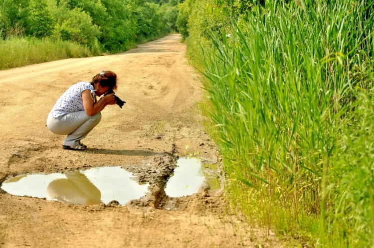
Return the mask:
{"type": "Polygon", "coordinates": [[[93,101],[90,90],[82,91],[84,111],[89,116],[94,116],[101,112],[107,105],[116,104],[114,93],[105,95],[96,103],[93,101]]]}

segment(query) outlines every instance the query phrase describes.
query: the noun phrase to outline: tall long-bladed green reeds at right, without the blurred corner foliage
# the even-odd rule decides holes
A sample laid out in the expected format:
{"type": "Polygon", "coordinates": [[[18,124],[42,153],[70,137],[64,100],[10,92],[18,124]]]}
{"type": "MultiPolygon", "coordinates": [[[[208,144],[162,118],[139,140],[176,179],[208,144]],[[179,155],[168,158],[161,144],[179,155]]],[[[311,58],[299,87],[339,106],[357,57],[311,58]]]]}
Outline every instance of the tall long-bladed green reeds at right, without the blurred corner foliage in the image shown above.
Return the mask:
{"type": "Polygon", "coordinates": [[[365,0],[269,1],[212,38],[204,54],[209,114],[233,211],[248,221],[295,236],[315,235],[320,221],[320,240],[329,237],[340,197],[329,193],[338,187],[337,144],[355,87],[370,88],[352,75],[373,55],[372,8],[365,0]]]}

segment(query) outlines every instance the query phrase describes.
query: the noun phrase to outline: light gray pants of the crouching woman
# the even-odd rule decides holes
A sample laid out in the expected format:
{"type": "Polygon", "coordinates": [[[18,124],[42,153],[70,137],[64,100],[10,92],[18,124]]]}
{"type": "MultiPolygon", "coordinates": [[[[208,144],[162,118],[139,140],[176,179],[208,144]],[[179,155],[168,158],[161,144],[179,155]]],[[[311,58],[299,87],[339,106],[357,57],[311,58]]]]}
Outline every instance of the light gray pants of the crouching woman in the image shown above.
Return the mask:
{"type": "Polygon", "coordinates": [[[86,112],[79,111],[59,118],[48,116],[47,126],[55,134],[67,135],[64,145],[79,145],[79,140],[87,136],[100,120],[100,112],[94,116],[88,116],[86,112]]]}

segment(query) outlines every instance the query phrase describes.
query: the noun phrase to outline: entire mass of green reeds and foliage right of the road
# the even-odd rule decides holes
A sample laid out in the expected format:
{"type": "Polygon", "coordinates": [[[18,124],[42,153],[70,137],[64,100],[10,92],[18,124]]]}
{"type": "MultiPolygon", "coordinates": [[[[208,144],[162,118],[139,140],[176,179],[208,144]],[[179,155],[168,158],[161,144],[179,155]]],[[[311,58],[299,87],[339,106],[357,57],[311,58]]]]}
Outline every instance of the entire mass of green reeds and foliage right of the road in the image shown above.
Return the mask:
{"type": "Polygon", "coordinates": [[[231,209],[303,242],[370,247],[374,3],[226,2],[179,7],[202,44],[231,209]]]}

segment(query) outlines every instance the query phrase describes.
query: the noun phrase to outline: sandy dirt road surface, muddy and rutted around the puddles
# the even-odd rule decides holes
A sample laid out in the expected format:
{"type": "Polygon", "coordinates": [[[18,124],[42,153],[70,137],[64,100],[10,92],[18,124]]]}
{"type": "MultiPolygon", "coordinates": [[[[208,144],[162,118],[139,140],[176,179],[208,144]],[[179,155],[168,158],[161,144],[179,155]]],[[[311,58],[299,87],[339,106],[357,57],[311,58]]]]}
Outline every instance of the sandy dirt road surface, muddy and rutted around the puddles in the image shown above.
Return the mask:
{"type": "Polygon", "coordinates": [[[0,183],[102,166],[122,166],[150,183],[145,197],[126,205],[73,205],[1,190],[0,247],[281,246],[227,215],[221,189],[203,184],[192,196],[165,194],[178,156],[198,152],[212,164],[219,157],[196,107],[204,93],[200,76],[180,38],[173,34],[121,54],[0,71],[0,183]],[[47,129],[47,115],[70,85],[102,70],[117,73],[116,94],[127,103],[102,111],[101,122],[82,140],[86,151],[63,150],[64,136],[47,129]]]}

